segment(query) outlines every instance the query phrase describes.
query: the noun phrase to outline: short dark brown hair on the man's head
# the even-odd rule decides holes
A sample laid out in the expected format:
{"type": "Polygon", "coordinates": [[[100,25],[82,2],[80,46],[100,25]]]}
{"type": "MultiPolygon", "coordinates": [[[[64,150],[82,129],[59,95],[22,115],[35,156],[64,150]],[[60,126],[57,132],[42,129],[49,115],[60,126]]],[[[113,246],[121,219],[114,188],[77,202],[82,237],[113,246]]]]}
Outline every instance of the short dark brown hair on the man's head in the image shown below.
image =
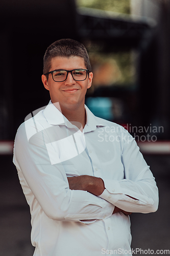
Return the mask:
{"type": "Polygon", "coordinates": [[[70,56],[83,58],[86,69],[91,72],[90,60],[85,46],[73,39],[60,39],[46,49],[43,59],[43,74],[50,71],[52,58],[70,56]]]}

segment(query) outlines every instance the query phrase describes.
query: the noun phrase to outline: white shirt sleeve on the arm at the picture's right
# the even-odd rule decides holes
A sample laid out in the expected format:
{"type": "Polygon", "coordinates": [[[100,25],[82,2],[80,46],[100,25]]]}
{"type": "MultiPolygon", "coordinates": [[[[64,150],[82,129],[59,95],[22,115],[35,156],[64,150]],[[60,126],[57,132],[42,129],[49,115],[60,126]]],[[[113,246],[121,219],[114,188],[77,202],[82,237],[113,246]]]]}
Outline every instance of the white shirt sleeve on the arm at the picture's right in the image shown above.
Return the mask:
{"type": "Polygon", "coordinates": [[[154,212],[158,208],[155,178],[143,159],[136,141],[128,133],[122,148],[123,180],[104,179],[101,198],[128,212],[154,212]]]}

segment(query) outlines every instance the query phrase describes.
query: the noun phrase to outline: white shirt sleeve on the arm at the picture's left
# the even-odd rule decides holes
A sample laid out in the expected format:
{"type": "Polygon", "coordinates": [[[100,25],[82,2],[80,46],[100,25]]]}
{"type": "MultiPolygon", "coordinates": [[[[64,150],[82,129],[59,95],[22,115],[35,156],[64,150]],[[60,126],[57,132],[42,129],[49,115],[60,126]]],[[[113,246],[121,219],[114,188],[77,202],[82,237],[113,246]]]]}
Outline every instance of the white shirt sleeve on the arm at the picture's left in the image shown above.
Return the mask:
{"type": "Polygon", "coordinates": [[[36,200],[49,218],[59,221],[90,223],[109,218],[114,206],[87,191],[70,190],[62,163],[51,164],[44,138],[41,139],[42,136],[30,143],[24,124],[15,138],[13,162],[23,176],[22,189],[30,208],[37,205],[36,200]]]}

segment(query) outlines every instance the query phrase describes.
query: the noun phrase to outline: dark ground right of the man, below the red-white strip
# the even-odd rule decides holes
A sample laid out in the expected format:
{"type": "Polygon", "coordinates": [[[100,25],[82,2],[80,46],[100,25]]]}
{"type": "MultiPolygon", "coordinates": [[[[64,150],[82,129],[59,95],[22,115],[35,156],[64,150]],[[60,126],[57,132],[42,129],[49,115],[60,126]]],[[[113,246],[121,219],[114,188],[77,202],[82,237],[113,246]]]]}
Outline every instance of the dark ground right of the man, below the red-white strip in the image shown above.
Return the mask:
{"type": "MultiPolygon", "coordinates": [[[[132,214],[132,248],[170,251],[170,156],[145,156],[159,188],[159,208],[152,214],[132,214]]],[[[166,253],[162,253],[166,255],[166,253]]],[[[170,253],[170,252],[169,252],[170,253]]],[[[149,254],[149,253],[148,253],[149,254]]]]}

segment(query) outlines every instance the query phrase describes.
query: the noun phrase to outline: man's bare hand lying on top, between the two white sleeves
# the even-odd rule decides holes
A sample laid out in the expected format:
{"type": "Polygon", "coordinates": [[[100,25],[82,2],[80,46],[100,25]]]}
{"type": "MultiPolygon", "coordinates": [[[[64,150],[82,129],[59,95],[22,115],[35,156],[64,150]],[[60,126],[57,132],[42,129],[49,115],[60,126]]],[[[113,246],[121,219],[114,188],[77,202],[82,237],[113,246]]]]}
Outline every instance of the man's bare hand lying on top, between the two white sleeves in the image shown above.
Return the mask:
{"type": "Polygon", "coordinates": [[[85,190],[95,196],[100,196],[105,189],[104,181],[98,177],[81,175],[76,177],[68,177],[67,180],[70,189],[85,190]]]}

